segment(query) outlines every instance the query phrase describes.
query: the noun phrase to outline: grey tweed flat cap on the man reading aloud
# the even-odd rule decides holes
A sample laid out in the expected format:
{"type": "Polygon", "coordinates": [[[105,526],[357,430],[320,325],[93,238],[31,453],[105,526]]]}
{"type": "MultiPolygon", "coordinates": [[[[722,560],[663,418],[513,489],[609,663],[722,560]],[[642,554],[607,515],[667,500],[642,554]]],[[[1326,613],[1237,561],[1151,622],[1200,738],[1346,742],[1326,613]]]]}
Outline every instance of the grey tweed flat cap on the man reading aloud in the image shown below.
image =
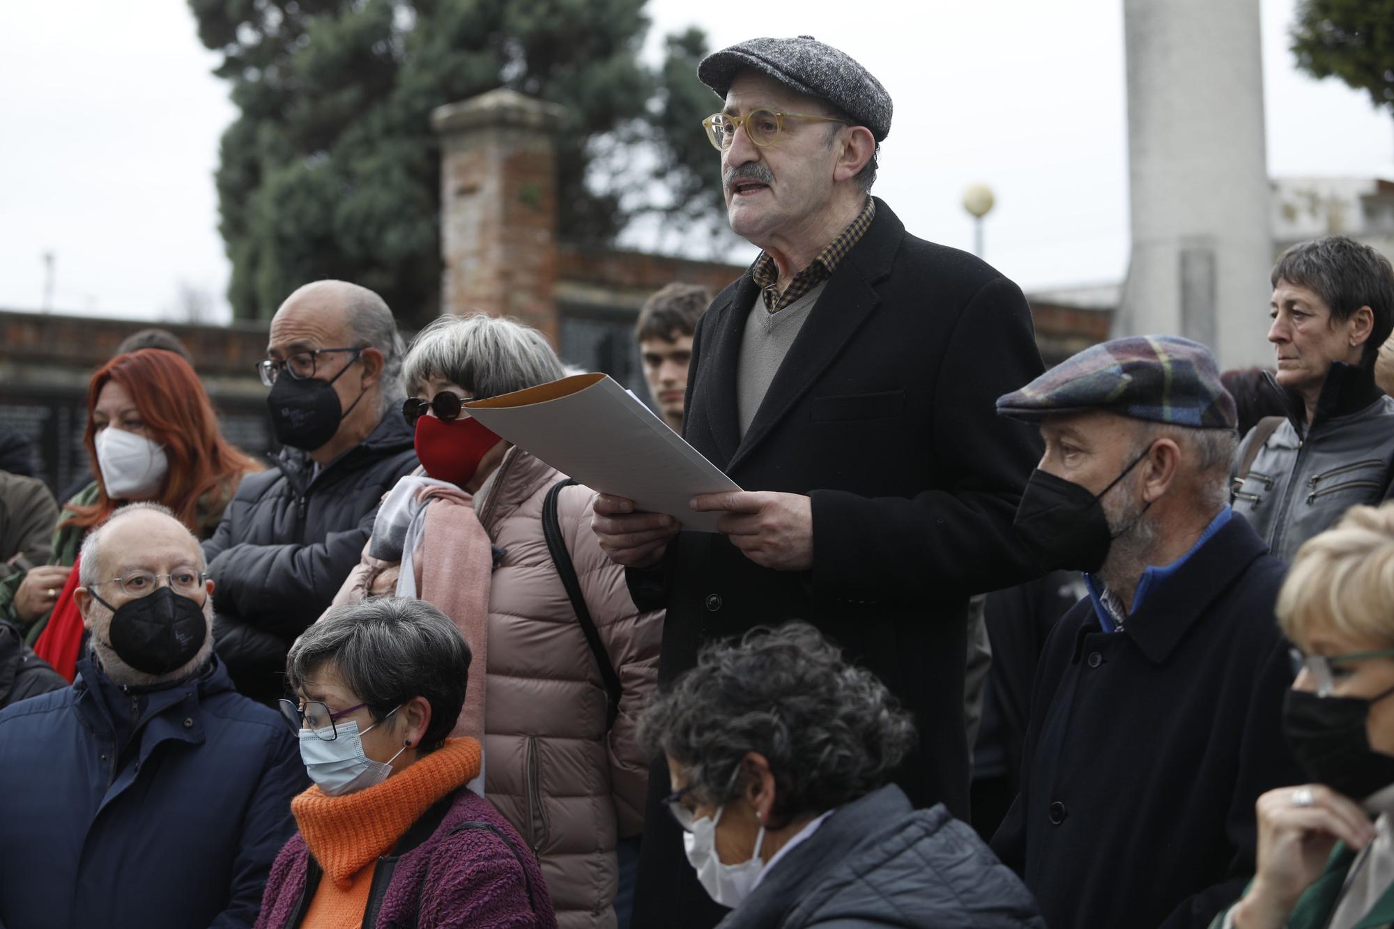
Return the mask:
{"type": "Polygon", "coordinates": [[[697,78],[725,98],[740,68],[763,71],[800,93],[822,98],[859,124],[875,141],[891,133],[891,95],[856,60],[811,35],[796,39],[747,39],[712,52],[697,66],[697,78]]]}

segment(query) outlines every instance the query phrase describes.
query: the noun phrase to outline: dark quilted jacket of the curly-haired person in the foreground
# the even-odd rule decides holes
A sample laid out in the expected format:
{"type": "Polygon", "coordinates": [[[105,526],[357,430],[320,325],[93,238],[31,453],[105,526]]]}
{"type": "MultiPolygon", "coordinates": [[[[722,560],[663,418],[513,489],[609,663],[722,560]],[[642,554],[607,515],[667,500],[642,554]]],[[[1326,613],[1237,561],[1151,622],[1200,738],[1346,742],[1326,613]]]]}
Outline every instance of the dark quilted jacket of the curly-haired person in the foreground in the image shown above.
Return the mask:
{"type": "Polygon", "coordinates": [[[1036,901],[944,803],[894,784],[832,813],[719,929],[1046,929],[1036,901]]]}

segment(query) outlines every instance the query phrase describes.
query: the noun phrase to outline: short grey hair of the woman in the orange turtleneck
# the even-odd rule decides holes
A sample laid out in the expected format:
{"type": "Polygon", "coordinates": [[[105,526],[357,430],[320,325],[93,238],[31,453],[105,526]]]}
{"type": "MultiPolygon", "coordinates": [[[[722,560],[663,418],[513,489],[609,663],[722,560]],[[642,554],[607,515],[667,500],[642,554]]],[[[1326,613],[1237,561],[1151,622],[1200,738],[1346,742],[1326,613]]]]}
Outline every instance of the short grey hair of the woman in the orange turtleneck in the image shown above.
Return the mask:
{"type": "Polygon", "coordinates": [[[425,600],[374,597],[335,607],[305,629],[286,656],[286,678],[300,690],[319,668],[333,665],[379,723],[424,696],[431,721],[418,748],[431,752],[464,706],[470,657],[460,630],[425,600]]]}

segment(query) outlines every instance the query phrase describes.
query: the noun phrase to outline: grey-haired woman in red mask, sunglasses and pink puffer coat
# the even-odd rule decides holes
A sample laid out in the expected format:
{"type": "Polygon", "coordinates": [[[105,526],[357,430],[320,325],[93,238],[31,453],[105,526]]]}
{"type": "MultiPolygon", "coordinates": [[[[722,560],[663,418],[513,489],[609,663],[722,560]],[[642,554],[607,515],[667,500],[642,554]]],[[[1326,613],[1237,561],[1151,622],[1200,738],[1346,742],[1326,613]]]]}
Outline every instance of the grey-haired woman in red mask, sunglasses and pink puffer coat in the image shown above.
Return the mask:
{"type": "Polygon", "coordinates": [[[461,407],[563,374],[542,335],[512,319],[442,317],[417,335],[403,414],[424,473],[386,497],[336,603],[395,593],[450,617],[482,671],[454,727],[484,743],[474,787],[537,854],[562,929],[606,929],[616,847],[643,826],[648,757],[634,720],[657,678],[664,614],[640,612],[625,569],[601,551],[594,492],[565,487],[555,526],[604,654],[591,651],[544,531],[565,476],[461,407]],[[620,681],[618,704],[598,658],[620,681]]]}

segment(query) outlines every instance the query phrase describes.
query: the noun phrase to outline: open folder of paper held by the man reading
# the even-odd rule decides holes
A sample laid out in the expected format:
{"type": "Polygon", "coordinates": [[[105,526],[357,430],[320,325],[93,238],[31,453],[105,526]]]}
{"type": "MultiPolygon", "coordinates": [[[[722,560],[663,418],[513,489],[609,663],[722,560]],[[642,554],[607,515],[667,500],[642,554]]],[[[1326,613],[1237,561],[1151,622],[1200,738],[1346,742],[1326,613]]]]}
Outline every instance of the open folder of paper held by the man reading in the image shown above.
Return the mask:
{"type": "Polygon", "coordinates": [[[714,533],[721,513],[694,513],[697,494],[739,491],[729,477],[606,374],[577,374],[466,403],[470,416],[581,484],[714,533]]]}

